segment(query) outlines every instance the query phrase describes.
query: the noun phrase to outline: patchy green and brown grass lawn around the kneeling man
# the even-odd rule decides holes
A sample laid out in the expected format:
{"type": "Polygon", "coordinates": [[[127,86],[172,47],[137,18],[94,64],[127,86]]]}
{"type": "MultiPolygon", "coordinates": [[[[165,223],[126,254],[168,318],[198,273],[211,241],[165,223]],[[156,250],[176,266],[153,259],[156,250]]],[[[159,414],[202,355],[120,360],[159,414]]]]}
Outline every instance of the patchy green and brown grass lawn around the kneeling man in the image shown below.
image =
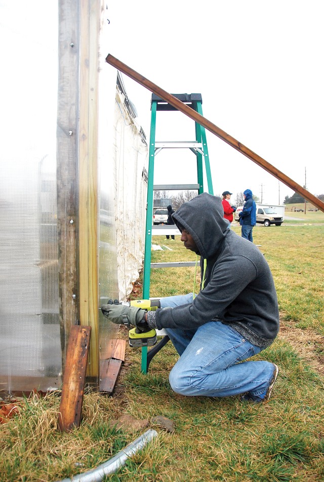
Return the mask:
{"type": "MultiPolygon", "coordinates": [[[[259,225],[253,231],[274,276],[281,318],[279,336],[255,357],[279,366],[268,404],[177,395],[168,380],[178,359],[171,343],[153,358],[147,375],[141,373],[141,350],[128,347],[114,396],[86,395],[80,429],[56,431],[59,398],[53,395],[23,402],[20,415],[0,425],[1,481],[59,480],[98,466],[141,433],[109,426],[122,414],[148,420],[158,436],[105,480],[324,480],[323,221],[324,215],[322,223],[259,225]],[[158,415],[175,423],[174,432],[151,422],[158,415]]],[[[236,223],[232,229],[240,234],[236,223]]],[[[172,248],[152,251],[154,262],[195,259],[179,236],[153,242],[172,248]]],[[[193,277],[194,268],[152,270],[150,295],[192,291],[193,277]]],[[[137,288],[141,297],[140,283],[137,288]]],[[[121,328],[120,337],[127,335],[121,328]]]]}

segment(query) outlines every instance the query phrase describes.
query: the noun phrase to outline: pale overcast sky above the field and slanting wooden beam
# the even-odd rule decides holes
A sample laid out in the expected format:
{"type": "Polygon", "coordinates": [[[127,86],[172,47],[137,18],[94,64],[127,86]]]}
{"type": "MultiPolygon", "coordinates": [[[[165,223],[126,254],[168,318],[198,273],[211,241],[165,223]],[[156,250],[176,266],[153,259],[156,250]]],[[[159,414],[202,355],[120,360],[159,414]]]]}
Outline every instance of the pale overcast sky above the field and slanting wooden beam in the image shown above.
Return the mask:
{"type": "MultiPolygon", "coordinates": [[[[324,192],[322,2],[107,2],[110,53],[172,94],[201,93],[204,116],[315,195],[324,192]]],[[[151,93],[123,74],[149,139],[151,93]]],[[[156,141],[194,140],[182,113],[157,113],[156,141]],[[167,117],[168,116],[168,117],[167,117]]],[[[207,132],[214,194],[263,202],[293,191],[207,132]]],[[[159,157],[158,157],[159,156],[159,157]]],[[[195,183],[194,154],[164,150],[154,184],[195,183]],[[190,178],[190,179],[189,179],[190,178]]],[[[207,190],[207,189],[206,189],[207,190]]]]}

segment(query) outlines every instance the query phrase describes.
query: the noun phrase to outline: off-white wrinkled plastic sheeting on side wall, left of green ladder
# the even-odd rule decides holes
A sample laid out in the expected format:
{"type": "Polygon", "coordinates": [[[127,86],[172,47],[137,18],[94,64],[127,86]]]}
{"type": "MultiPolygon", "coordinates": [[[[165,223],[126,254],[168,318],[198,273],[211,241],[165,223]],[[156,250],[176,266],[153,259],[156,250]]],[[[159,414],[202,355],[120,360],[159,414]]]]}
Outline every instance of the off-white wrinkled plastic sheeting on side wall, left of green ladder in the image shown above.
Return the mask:
{"type": "Polygon", "coordinates": [[[132,292],[143,267],[147,197],[148,147],[140,126],[116,91],[115,103],[115,222],[119,299],[132,292]]]}

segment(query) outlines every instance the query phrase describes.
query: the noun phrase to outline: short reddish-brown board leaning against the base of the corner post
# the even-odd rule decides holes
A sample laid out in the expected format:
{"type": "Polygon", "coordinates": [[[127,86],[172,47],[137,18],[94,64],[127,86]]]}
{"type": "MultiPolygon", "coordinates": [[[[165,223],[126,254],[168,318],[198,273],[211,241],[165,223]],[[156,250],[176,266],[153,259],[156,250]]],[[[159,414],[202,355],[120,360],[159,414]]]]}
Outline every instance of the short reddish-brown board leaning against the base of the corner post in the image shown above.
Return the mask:
{"type": "Polygon", "coordinates": [[[68,432],[80,425],[90,332],[90,326],[71,326],[58,418],[61,432],[68,432]]]}

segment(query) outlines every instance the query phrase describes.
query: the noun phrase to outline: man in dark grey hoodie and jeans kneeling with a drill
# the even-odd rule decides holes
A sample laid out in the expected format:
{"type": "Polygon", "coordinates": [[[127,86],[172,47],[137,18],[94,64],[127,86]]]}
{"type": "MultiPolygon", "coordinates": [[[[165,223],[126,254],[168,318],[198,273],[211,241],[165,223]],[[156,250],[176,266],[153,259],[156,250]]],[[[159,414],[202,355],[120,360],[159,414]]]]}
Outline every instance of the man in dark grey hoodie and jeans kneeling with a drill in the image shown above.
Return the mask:
{"type": "Polygon", "coordinates": [[[279,330],[267,261],[257,246],[227,229],[218,197],[200,194],[173,219],[185,248],[200,256],[198,294],[161,298],[156,312],[107,304],[103,314],[113,323],[166,329],[180,355],[169,375],[175,392],[267,402],[278,367],[245,361],[270,346],[279,330]]]}

